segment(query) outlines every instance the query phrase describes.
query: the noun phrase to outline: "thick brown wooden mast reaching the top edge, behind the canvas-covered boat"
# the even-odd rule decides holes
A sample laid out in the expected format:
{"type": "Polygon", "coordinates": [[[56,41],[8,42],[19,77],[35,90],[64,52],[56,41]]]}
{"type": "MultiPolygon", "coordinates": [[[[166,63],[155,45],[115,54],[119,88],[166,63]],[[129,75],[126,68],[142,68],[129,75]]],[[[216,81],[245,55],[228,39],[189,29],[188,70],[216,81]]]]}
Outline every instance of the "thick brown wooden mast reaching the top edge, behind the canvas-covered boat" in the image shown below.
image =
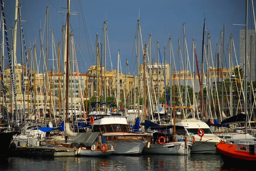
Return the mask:
{"type": "MultiPolygon", "coordinates": [[[[68,49],[68,47],[69,47],[69,38],[68,38],[68,36],[69,36],[69,17],[70,17],[70,9],[69,9],[69,7],[70,7],[70,1],[69,0],[67,0],[67,32],[66,32],[66,44],[67,44],[67,46],[66,46],[66,123],[68,123],[68,120],[67,120],[67,115],[68,115],[68,109],[69,109],[69,107],[68,107],[68,83],[69,83],[69,49],[68,49]]],[[[67,136],[65,136],[65,142],[67,142],[67,136]]]]}

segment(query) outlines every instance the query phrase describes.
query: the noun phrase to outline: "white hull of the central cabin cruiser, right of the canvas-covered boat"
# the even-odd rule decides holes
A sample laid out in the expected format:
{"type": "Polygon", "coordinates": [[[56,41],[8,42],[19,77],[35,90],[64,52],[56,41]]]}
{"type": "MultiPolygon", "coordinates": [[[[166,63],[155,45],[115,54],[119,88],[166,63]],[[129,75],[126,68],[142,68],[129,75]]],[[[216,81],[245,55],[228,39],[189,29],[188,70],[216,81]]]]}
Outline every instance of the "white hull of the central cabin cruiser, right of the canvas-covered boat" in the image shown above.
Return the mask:
{"type": "Polygon", "coordinates": [[[116,144],[114,154],[141,154],[147,141],[144,140],[113,140],[116,144]]]}

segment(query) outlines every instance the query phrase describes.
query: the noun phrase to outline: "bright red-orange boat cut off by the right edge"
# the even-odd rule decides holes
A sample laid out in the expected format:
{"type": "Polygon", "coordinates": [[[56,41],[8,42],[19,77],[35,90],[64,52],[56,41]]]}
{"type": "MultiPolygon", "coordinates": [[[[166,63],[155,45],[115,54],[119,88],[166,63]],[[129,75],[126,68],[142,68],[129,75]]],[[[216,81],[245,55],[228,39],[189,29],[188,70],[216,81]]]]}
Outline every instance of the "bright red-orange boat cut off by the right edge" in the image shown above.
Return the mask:
{"type": "Polygon", "coordinates": [[[240,141],[234,145],[221,141],[216,147],[225,164],[252,166],[256,163],[256,142],[240,141]]]}

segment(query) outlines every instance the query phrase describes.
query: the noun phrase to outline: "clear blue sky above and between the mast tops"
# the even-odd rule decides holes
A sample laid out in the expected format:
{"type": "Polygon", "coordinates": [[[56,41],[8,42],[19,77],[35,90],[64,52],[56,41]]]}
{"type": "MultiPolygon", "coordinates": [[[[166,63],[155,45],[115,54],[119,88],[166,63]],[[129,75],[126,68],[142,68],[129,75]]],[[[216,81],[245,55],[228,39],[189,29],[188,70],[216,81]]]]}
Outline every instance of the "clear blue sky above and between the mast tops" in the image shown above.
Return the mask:
{"type": "MultiPolygon", "coordinates": [[[[14,26],[15,0],[4,0],[7,29],[14,26]]],[[[49,29],[53,30],[55,46],[62,42],[62,25],[66,22],[64,12],[67,0],[20,0],[21,18],[26,41],[26,48],[36,44],[38,60],[40,57],[39,29],[44,31],[44,50],[46,43],[46,6],[49,8],[49,29]]],[[[255,6],[255,4],[254,4],[255,6]]],[[[251,18],[251,1],[249,0],[249,25],[254,25],[251,18]]],[[[175,55],[175,63],[178,64],[177,44],[180,38],[180,48],[183,56],[183,23],[185,23],[185,35],[192,60],[192,39],[195,39],[198,60],[201,61],[202,32],[204,17],[206,17],[206,30],[210,34],[212,54],[215,56],[216,43],[220,45],[220,35],[225,24],[225,56],[232,32],[239,54],[239,29],[244,26],[245,2],[242,0],[71,0],[70,12],[79,12],[71,15],[70,28],[76,41],[79,71],[85,73],[91,64],[95,65],[95,41],[96,34],[103,43],[103,22],[107,19],[108,40],[111,52],[113,69],[117,67],[116,54],[120,50],[122,72],[125,72],[125,58],[128,59],[128,71],[130,74],[137,72],[136,56],[133,53],[134,37],[137,35],[137,20],[140,10],[140,27],[143,42],[148,44],[148,35],[152,36],[152,57],[156,61],[157,41],[160,41],[160,51],[163,60],[163,48],[166,46],[166,61],[169,62],[168,39],[171,37],[175,55]],[[85,22],[86,21],[86,22],[85,22]],[[90,40],[90,41],[89,41],[90,40]]],[[[254,29],[254,26],[248,26],[254,29]]],[[[19,33],[19,32],[18,32],[19,33]]],[[[11,39],[11,32],[8,32],[11,39]]],[[[2,38],[2,34],[0,35],[2,38]]],[[[49,43],[51,43],[49,33],[49,43]]],[[[1,39],[2,40],[2,39],[1,39]]],[[[205,37],[206,40],[206,37],[205,37]]],[[[17,40],[17,61],[21,62],[20,40],[17,40]]],[[[205,41],[206,42],[206,41],[205,41]]],[[[52,58],[52,45],[49,45],[49,58],[52,58]]],[[[62,43],[61,43],[62,46],[62,43]]],[[[62,47],[61,47],[62,48],[62,47]]],[[[108,49],[108,45],[107,45],[108,49]]],[[[140,46],[141,49],[141,46],[140,46]]],[[[107,53],[107,70],[111,70],[109,51],[107,53]]],[[[7,56],[7,55],[6,55],[7,56]]],[[[142,51],[140,61],[142,61],[142,51]]],[[[238,55],[239,56],[239,55],[238,55]]],[[[234,57],[233,57],[234,58],[234,57]]],[[[200,62],[198,61],[198,62],[200,62]]],[[[192,61],[191,61],[192,62],[192,61]]],[[[140,62],[142,63],[142,62],[140,62]]],[[[174,60],[172,59],[172,64],[174,60]]],[[[7,64],[7,61],[6,61],[7,64]]],[[[6,65],[5,65],[6,66],[6,65]]],[[[48,61],[48,69],[52,67],[52,61],[48,61]]],[[[41,70],[41,68],[39,69],[41,70]]]]}

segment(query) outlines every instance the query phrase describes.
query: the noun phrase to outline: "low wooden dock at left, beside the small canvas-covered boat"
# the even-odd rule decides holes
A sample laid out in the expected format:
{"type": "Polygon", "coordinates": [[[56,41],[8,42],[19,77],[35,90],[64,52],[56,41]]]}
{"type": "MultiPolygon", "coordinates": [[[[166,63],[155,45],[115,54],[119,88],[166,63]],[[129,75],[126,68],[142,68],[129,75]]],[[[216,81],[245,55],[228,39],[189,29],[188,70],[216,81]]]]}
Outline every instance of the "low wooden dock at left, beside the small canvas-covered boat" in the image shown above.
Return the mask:
{"type": "Polygon", "coordinates": [[[76,150],[61,147],[16,147],[9,154],[10,157],[74,157],[76,150]]]}

